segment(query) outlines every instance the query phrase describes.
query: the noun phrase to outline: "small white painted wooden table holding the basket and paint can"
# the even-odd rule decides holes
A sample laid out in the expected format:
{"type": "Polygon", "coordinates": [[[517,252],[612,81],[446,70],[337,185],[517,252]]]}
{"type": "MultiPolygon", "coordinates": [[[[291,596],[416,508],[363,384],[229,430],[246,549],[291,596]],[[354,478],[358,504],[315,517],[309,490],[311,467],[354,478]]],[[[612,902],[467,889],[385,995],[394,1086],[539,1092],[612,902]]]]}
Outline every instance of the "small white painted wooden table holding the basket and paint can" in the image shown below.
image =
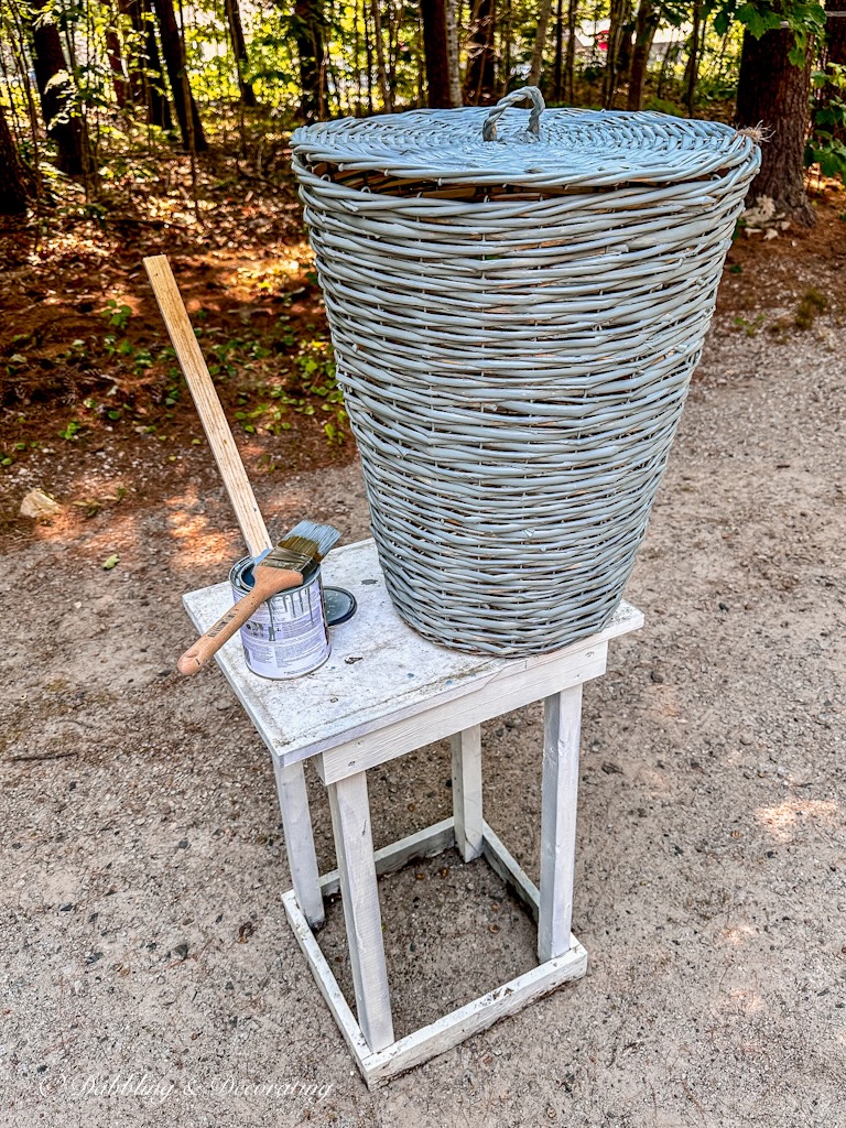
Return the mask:
{"type": "MultiPolygon", "coordinates": [[[[444,650],[407,627],[394,610],[372,540],[331,553],[324,582],[346,588],[359,609],[333,629],[332,656],[314,673],[267,681],[250,673],[239,640],[218,653],[226,675],[271,750],[293,889],[282,900],[300,948],[368,1085],[425,1061],[496,1019],[576,979],[588,953],[571,933],[582,684],[605,672],[608,642],[643,625],[622,603],[608,626],[565,650],[499,659],[444,650]],[[479,725],[545,700],[540,888],[482,817],[479,725]],[[373,851],[367,769],[431,741],[452,738],[452,817],[373,851]],[[302,765],[315,759],[326,785],[337,871],[320,876],[302,765]],[[538,924],[539,964],[437,1022],[394,1039],[377,874],[456,846],[484,856],[538,924]],[[323,899],[340,890],[355,989],[355,1015],[312,929],[323,899]],[[356,1021],[358,1020],[358,1021],[356,1021]]],[[[185,596],[200,632],[231,603],[228,583],[185,596]]]]}

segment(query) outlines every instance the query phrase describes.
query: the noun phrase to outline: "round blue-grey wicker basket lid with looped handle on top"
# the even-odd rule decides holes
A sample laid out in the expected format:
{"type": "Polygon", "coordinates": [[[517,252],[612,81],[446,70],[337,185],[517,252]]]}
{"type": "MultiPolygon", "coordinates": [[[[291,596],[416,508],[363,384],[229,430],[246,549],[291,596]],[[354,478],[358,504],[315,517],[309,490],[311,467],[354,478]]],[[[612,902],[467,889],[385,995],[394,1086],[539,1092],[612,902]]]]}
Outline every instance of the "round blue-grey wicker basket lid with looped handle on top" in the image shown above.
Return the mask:
{"type": "Polygon", "coordinates": [[[546,109],[540,91],[531,86],[514,90],[493,108],[414,109],[317,122],[298,129],[291,147],[294,160],[311,170],[327,164],[408,180],[535,187],[673,184],[758,159],[752,136],[720,122],[646,112],[546,109]],[[534,103],[531,111],[505,114],[526,99],[534,103]]]}

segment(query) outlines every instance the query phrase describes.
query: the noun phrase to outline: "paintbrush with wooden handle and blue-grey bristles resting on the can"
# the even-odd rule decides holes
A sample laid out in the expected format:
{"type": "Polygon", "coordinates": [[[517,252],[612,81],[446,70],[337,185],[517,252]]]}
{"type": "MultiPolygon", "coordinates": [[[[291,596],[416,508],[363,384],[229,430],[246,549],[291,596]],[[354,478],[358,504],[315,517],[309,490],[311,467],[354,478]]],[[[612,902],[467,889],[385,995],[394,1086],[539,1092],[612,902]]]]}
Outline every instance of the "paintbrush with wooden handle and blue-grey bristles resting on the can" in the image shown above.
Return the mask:
{"type": "Polygon", "coordinates": [[[244,626],[250,615],[271,596],[290,588],[299,588],[338,540],[341,534],[331,525],[300,521],[266,555],[253,565],[252,591],[239,599],[190,646],[176,663],[179,673],[197,673],[210,658],[220,650],[235,632],[244,626]]]}

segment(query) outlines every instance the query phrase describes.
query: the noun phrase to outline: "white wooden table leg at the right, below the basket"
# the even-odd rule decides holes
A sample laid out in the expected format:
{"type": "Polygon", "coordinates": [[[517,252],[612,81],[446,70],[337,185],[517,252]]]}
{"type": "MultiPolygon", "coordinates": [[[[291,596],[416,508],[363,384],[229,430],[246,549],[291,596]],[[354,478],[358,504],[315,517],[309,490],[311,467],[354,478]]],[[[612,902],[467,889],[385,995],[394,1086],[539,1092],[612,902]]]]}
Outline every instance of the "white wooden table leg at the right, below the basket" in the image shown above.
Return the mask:
{"type": "Polygon", "coordinates": [[[544,711],[538,914],[538,957],[541,962],[570,951],[582,723],[581,684],[547,697],[544,711]]]}

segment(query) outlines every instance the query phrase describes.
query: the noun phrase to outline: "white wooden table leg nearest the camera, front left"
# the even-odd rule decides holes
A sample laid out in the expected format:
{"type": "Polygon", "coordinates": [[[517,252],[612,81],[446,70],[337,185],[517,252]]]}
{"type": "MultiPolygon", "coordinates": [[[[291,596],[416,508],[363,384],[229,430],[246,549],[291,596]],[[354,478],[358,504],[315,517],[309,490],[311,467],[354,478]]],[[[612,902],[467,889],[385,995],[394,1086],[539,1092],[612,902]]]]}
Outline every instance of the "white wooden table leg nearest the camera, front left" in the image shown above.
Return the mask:
{"type": "Polygon", "coordinates": [[[359,1025],[370,1049],[381,1050],[394,1041],[394,1024],[370,831],[367,774],[358,772],[328,784],[326,790],[329,793],[359,1025]]]}

